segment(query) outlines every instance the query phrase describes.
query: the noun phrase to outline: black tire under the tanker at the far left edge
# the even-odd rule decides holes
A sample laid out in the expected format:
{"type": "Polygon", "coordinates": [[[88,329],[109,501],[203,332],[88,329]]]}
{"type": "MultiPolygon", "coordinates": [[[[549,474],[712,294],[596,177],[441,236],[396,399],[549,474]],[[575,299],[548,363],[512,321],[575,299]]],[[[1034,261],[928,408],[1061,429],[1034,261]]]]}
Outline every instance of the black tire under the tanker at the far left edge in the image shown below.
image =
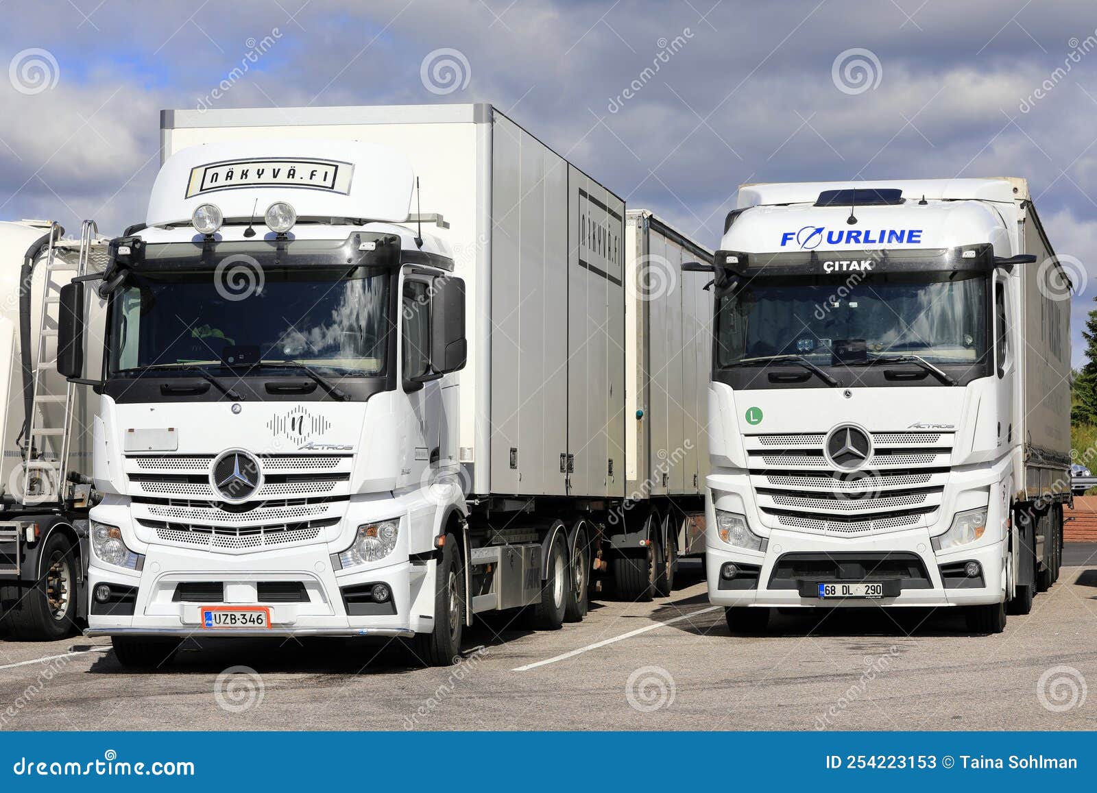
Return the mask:
{"type": "MultiPolygon", "coordinates": [[[[79,614],[77,551],[68,537],[53,532],[38,557],[43,576],[22,590],[22,599],[4,615],[9,638],[22,642],[56,642],[77,630],[79,614]]],[[[16,587],[5,587],[9,591],[16,587]]]]}

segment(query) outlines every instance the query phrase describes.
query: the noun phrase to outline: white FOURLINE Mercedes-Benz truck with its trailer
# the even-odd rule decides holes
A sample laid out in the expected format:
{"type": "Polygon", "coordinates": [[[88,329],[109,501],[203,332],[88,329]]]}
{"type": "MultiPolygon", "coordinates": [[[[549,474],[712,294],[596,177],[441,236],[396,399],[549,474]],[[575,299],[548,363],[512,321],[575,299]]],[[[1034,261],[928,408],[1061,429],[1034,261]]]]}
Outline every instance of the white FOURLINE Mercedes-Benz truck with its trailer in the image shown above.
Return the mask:
{"type": "Polygon", "coordinates": [[[1070,296],[1022,179],[748,184],[712,271],[709,597],[957,607],[1059,575],[1070,296]]]}

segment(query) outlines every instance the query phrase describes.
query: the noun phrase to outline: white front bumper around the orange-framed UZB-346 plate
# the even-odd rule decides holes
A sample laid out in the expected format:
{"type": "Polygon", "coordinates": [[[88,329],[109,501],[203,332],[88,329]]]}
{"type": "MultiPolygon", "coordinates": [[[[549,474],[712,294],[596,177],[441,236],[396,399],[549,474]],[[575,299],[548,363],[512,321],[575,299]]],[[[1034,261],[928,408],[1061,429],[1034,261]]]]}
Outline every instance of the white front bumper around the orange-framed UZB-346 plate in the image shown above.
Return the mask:
{"type": "MultiPolygon", "coordinates": [[[[398,552],[395,552],[398,554],[398,552]]],[[[411,636],[433,626],[434,562],[406,555],[346,570],[335,569],[328,547],[318,543],[244,556],[149,545],[144,568],[125,570],[92,558],[88,636],[411,636]],[[95,588],[128,593],[118,602],[97,603],[95,588]],[[387,603],[352,605],[351,592],[384,584],[387,603]],[[182,585],[182,586],[181,586],[182,585]],[[267,599],[261,590],[295,591],[295,602],[267,599]],[[360,588],[355,590],[354,588],[360,588]],[[203,589],[217,594],[204,597],[203,589]],[[185,594],[181,594],[185,590],[185,594]],[[195,593],[197,592],[197,593],[195,593]],[[421,602],[430,594],[430,602],[421,602]],[[181,599],[182,598],[182,599],[181,599]],[[264,607],[268,628],[206,628],[205,607],[264,607]]]]}

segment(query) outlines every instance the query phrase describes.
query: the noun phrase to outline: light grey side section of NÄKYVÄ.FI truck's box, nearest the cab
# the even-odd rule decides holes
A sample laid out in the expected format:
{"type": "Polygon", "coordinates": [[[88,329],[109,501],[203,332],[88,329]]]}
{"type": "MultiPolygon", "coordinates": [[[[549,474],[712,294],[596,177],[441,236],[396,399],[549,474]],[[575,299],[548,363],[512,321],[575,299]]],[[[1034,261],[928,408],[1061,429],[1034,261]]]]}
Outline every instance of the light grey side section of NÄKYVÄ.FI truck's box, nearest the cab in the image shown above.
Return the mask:
{"type": "Polygon", "coordinates": [[[493,174],[491,491],[564,495],[567,169],[498,115],[493,174]]]}

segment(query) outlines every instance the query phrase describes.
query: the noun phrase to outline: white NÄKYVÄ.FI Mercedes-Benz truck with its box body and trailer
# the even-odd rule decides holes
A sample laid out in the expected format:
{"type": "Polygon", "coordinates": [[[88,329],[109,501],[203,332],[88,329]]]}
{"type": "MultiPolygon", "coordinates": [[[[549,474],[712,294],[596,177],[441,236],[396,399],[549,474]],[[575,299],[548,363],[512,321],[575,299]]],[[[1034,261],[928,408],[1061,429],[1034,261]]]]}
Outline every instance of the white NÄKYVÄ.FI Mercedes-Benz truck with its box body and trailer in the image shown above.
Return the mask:
{"type": "Polygon", "coordinates": [[[703,536],[711,298],[678,273],[708,251],[651,213],[626,237],[487,104],[166,111],[161,145],[145,222],[60,298],[98,400],[89,635],[449,664],[479,612],[669,593],[703,536]]]}

